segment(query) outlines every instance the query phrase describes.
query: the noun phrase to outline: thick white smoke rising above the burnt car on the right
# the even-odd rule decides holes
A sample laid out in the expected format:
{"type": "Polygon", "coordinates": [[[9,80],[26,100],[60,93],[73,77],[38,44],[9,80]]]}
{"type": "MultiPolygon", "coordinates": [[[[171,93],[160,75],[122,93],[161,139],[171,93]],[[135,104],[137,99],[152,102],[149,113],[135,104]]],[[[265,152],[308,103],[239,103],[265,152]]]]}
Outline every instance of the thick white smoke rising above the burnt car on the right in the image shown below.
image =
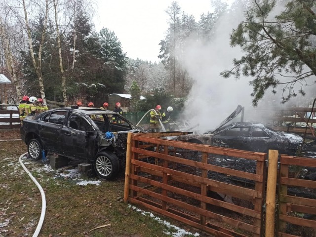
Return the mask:
{"type": "MultiPolygon", "coordinates": [[[[271,15],[274,17],[280,10],[281,8],[277,7],[271,15]]],[[[236,80],[233,77],[224,79],[220,76],[225,69],[233,68],[234,58],[240,59],[243,55],[239,47],[230,46],[230,34],[244,19],[244,11],[245,8],[240,7],[224,14],[218,20],[213,38],[208,44],[197,43],[195,39],[187,44],[185,67],[195,83],[184,108],[184,117],[191,120],[191,125],[195,126],[192,130],[195,132],[202,133],[215,129],[237,108],[237,105],[245,107],[246,120],[254,118],[255,108],[252,106],[253,98],[250,95],[253,88],[249,85],[252,78],[241,76],[236,80]]],[[[272,89],[266,91],[264,98],[258,103],[258,108],[281,106],[282,92],[278,91],[273,95],[271,91],[272,89]]],[[[299,106],[300,98],[299,95],[293,98],[287,106],[299,106]]]]}

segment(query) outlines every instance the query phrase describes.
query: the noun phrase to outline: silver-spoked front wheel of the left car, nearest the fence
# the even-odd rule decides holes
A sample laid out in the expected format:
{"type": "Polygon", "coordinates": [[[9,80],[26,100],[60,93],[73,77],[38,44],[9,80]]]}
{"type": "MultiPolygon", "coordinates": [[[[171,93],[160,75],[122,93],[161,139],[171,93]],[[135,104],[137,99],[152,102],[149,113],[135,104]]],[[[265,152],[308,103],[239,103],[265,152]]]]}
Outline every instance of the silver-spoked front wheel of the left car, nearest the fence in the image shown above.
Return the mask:
{"type": "Polygon", "coordinates": [[[102,179],[110,180],[118,174],[118,157],[113,153],[101,152],[93,162],[95,172],[102,179]]]}

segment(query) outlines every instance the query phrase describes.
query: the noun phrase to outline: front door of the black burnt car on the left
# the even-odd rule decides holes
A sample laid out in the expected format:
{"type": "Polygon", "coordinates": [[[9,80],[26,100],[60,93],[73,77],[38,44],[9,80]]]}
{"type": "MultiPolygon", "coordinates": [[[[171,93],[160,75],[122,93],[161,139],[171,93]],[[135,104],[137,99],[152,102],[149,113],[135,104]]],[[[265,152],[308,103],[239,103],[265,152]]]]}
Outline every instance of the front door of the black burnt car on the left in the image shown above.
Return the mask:
{"type": "Polygon", "coordinates": [[[86,118],[72,113],[61,129],[60,141],[65,156],[93,158],[97,145],[97,131],[86,118]]]}

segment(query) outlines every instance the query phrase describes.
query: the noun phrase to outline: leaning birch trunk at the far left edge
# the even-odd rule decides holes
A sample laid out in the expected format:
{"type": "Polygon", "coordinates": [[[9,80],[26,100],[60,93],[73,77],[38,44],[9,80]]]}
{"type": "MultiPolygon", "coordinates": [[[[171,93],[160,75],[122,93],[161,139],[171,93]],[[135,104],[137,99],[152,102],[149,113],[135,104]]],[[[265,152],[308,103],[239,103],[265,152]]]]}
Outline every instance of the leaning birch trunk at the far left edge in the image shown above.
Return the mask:
{"type": "Polygon", "coordinates": [[[22,100],[21,86],[18,80],[16,69],[15,69],[10,41],[8,39],[8,35],[6,32],[4,23],[2,21],[2,17],[0,17],[0,38],[1,38],[2,48],[4,51],[4,58],[5,58],[5,64],[6,64],[7,70],[10,74],[11,81],[13,85],[15,86],[17,97],[20,98],[20,100],[22,100]]]}

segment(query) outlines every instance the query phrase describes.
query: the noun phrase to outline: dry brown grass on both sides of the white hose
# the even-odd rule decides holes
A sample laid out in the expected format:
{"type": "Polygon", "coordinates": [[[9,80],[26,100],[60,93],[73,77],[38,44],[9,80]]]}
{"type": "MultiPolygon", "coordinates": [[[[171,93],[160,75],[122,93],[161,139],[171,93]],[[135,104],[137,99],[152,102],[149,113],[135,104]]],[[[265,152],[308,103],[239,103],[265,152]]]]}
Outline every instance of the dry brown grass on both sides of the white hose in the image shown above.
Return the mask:
{"type": "MultiPolygon", "coordinates": [[[[0,237],[32,236],[40,219],[40,192],[18,160],[26,152],[22,141],[0,142],[0,237]]],[[[122,201],[123,173],[111,182],[103,180],[100,185],[80,186],[77,182],[82,177],[74,180],[59,175],[65,170],[47,171],[42,161],[25,158],[23,162],[46,195],[46,214],[40,237],[171,236],[165,233],[173,230],[132,210],[122,201]],[[92,230],[100,226],[104,227],[92,230]]],[[[180,223],[160,218],[181,227],[180,223]]],[[[188,226],[184,228],[197,232],[188,226]]]]}

